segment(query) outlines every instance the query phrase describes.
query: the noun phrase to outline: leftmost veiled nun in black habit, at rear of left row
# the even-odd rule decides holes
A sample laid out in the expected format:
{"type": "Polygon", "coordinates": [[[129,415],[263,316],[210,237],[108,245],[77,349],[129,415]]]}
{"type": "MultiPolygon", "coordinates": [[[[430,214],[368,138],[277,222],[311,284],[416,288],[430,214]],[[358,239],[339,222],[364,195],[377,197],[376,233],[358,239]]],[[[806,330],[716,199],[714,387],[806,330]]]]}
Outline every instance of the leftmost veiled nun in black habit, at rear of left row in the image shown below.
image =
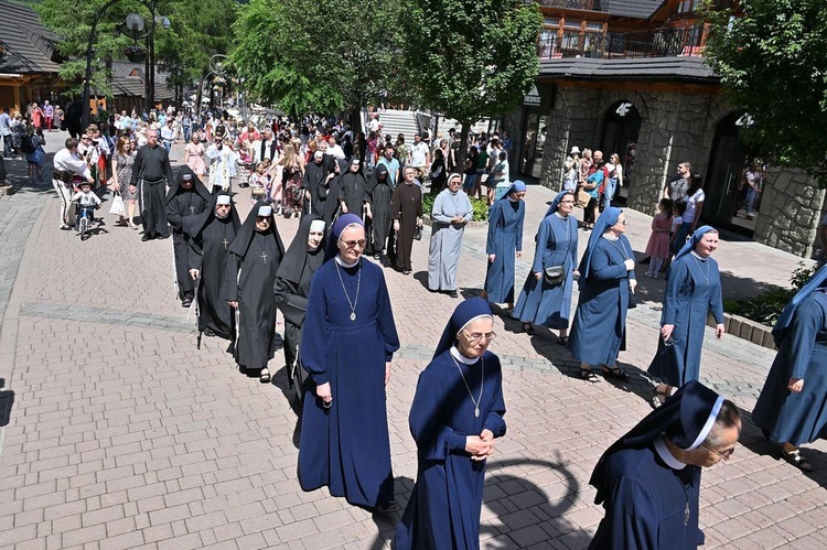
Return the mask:
{"type": "Polygon", "coordinates": [[[167,219],[172,227],[172,251],[175,257],[175,277],[181,305],[189,308],[195,298],[195,282],[190,276],[190,237],[184,231],[184,219],[197,216],[212,202],[213,196],[190,166],[181,166],[167,193],[167,219]]]}

